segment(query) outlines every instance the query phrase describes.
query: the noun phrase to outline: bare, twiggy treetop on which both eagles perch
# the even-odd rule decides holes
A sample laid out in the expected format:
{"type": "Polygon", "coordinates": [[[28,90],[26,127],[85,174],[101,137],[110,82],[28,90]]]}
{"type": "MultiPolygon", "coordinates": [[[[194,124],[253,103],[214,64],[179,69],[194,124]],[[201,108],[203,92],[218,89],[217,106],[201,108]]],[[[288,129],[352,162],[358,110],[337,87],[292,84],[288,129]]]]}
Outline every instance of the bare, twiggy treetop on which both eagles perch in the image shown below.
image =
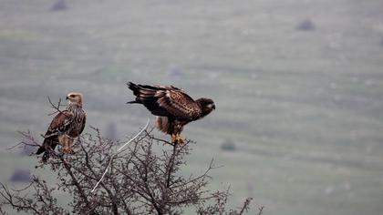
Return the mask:
{"type": "MultiPolygon", "coordinates": [[[[36,175],[23,188],[9,189],[0,183],[3,200],[0,214],[6,214],[3,209],[60,215],[181,214],[187,207],[193,207],[203,215],[248,212],[252,199],[245,200],[236,210],[227,209],[229,189],[206,189],[212,179],[210,171],[218,168],[213,159],[202,174],[184,177],[181,171],[187,165],[185,157],[190,156],[191,141],[172,145],[167,140],[153,137],[150,133],[153,128],[148,126],[149,121],[123,144],[103,138],[98,128],[90,127],[92,134],[80,137],[75,154],[52,150],[51,159],[36,166],[50,169],[57,178],[54,183],[47,183],[36,175]],[[116,146],[119,147],[116,149],[116,146]],[[56,190],[67,193],[68,206],[57,202],[56,190]]],[[[20,134],[25,141],[16,147],[40,145],[29,131],[20,134]]],[[[48,178],[52,179],[52,176],[48,178]]],[[[258,209],[258,214],[263,209],[258,209]]]]}

